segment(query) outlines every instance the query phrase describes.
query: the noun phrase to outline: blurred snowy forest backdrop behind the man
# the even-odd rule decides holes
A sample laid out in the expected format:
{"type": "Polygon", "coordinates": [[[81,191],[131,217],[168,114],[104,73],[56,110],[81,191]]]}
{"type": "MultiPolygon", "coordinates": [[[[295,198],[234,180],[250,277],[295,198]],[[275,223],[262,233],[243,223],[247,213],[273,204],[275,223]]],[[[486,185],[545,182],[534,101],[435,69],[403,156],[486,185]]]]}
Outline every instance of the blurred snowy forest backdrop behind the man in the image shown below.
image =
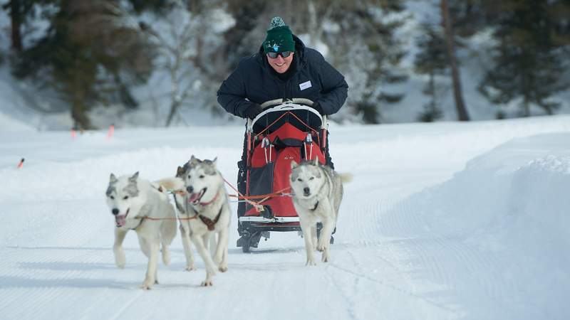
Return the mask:
{"type": "Polygon", "coordinates": [[[335,122],[570,113],[569,0],[0,6],[0,115],[42,130],[237,123],[216,92],[257,52],[272,16],[345,75],[348,100],[335,122]]]}

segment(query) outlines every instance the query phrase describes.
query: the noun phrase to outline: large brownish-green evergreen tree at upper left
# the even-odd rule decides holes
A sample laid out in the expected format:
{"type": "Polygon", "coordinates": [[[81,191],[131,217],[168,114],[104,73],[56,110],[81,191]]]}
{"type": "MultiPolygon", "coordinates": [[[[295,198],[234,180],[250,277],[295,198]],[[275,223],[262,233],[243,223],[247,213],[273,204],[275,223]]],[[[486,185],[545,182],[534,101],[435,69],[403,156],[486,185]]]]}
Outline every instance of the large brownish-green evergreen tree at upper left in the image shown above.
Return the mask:
{"type": "Polygon", "coordinates": [[[45,3],[50,26],[17,57],[14,75],[59,92],[78,128],[93,127],[87,112],[95,104],[136,107],[129,87],[150,75],[152,54],[138,26],[125,23],[115,1],[45,3]]]}

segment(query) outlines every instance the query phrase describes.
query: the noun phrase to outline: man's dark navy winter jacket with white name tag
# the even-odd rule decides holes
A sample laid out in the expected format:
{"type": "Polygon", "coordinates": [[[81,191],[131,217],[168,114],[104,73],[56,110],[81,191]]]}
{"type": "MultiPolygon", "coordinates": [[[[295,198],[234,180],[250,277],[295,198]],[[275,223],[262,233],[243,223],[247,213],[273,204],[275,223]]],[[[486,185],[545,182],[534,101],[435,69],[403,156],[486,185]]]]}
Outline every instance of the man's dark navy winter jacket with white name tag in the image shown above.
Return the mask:
{"type": "Polygon", "coordinates": [[[263,47],[259,52],[242,58],[236,70],[222,82],[217,92],[218,102],[238,117],[247,117],[245,110],[252,103],[281,98],[306,98],[318,102],[323,114],[333,114],[346,100],[348,85],[343,75],[328,64],[317,50],[306,48],[293,36],[295,55],[289,68],[294,68],[288,80],[281,80],[267,62],[263,47]]]}

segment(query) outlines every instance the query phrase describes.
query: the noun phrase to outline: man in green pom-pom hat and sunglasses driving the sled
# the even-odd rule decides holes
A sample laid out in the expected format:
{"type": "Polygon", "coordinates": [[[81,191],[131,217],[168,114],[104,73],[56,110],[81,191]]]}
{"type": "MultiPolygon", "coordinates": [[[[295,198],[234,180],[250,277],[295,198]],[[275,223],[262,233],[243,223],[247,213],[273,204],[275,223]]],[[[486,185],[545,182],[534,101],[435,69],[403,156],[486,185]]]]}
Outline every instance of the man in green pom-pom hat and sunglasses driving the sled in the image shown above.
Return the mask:
{"type": "MultiPolygon", "coordinates": [[[[265,41],[254,55],[243,58],[236,70],[222,82],[218,102],[238,117],[254,119],[269,100],[306,98],[320,114],[338,112],[344,104],[348,85],[343,75],[328,64],[318,51],[306,48],[283,19],[271,19],[265,41]]],[[[239,162],[238,188],[245,191],[245,159],[239,162]]],[[[326,164],[333,167],[326,145],[326,164]]],[[[238,216],[244,211],[240,203],[238,216]],[[241,210],[240,210],[241,209],[241,210]]],[[[239,230],[239,227],[238,227],[239,230]]],[[[241,234],[241,233],[240,233],[241,234]]]]}

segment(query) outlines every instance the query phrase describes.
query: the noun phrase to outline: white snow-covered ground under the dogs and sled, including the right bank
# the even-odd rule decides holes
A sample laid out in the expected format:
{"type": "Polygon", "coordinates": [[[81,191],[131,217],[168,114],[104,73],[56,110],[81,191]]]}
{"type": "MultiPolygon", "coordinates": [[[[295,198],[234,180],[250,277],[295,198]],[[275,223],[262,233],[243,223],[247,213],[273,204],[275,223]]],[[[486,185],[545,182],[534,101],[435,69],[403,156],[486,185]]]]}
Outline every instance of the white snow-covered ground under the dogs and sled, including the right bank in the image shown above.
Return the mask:
{"type": "MultiPolygon", "coordinates": [[[[115,267],[109,174],[172,176],[195,154],[234,181],[243,127],[0,132],[0,319],[568,319],[570,117],[332,126],[354,176],[331,262],[306,267],[296,233],[199,287],[180,235],[160,284],[139,289],[134,233],[115,267]],[[26,161],[16,169],[19,160],[26,161]]],[[[10,129],[10,130],[5,130],[10,129]]],[[[234,206],[234,205],[233,205],[234,206]]],[[[234,206],[235,208],[235,206],[234,206]]]]}

